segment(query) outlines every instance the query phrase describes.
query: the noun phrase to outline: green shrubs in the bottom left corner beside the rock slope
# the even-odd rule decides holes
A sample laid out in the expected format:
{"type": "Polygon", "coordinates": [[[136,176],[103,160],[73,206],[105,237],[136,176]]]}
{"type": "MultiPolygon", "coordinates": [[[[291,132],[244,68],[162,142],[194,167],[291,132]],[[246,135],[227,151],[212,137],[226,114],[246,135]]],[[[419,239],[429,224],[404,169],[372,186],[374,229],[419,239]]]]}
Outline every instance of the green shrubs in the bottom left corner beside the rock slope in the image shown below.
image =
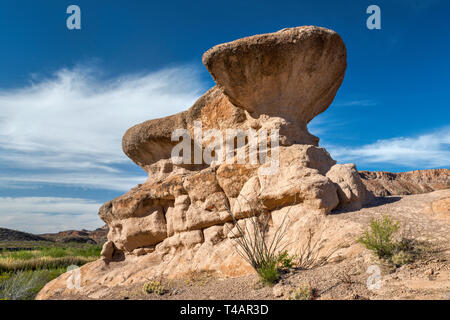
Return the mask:
{"type": "Polygon", "coordinates": [[[31,300],[44,285],[65,272],[65,269],[19,271],[0,281],[1,300],[31,300]]]}

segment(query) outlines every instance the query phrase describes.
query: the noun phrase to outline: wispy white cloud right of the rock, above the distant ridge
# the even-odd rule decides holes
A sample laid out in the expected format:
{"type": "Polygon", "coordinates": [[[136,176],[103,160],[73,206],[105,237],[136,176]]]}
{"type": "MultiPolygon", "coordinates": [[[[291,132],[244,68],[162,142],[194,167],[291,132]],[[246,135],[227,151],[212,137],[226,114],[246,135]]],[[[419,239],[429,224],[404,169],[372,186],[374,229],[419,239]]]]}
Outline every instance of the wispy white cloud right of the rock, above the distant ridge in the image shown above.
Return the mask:
{"type": "Polygon", "coordinates": [[[417,137],[379,140],[360,147],[326,148],[340,162],[389,163],[415,169],[450,167],[450,127],[417,137]]]}

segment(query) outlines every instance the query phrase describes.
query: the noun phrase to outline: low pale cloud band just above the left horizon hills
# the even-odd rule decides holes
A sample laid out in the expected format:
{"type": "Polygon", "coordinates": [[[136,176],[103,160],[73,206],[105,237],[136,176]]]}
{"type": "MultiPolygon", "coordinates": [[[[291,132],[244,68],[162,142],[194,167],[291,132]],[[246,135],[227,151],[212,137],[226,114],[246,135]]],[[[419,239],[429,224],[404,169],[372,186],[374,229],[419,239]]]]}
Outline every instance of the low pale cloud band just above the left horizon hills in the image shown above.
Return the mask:
{"type": "Polygon", "coordinates": [[[95,229],[101,204],[93,200],[50,197],[0,197],[0,226],[31,233],[95,229]]]}

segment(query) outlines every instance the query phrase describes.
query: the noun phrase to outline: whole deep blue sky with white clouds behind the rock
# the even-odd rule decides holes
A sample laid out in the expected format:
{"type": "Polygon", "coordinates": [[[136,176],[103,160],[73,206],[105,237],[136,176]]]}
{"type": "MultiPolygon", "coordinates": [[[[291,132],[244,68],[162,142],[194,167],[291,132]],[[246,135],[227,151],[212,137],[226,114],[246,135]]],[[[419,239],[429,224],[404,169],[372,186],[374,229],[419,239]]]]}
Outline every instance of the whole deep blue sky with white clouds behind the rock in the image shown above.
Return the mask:
{"type": "Polygon", "coordinates": [[[310,123],[338,162],[366,170],[450,166],[450,3],[390,1],[4,0],[0,4],[0,226],[93,229],[104,201],[145,181],[125,130],[187,109],[214,85],[204,51],[317,25],[348,69],[310,123]],[[81,8],[81,30],[66,8],[81,8]],[[381,30],[366,8],[381,8],[381,30]]]}

